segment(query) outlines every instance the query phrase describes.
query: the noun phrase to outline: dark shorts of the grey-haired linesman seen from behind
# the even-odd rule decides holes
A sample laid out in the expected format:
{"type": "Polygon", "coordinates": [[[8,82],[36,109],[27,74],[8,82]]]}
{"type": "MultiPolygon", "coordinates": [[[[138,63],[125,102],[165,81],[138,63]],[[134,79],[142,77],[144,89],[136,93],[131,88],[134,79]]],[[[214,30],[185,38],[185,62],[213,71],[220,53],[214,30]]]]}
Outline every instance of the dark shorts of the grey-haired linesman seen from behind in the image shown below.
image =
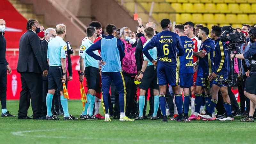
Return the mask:
{"type": "Polygon", "coordinates": [[[63,84],[61,82],[61,66],[50,66],[48,70],[48,90],[57,90],[57,88],[62,91],[63,84]]]}

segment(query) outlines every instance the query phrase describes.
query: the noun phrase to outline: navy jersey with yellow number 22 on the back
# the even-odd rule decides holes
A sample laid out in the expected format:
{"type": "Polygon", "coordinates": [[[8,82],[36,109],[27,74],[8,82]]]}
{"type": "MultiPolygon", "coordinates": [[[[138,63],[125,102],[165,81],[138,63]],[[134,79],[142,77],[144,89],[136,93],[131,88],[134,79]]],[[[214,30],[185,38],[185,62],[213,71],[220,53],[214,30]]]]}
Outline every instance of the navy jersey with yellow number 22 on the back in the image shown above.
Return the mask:
{"type": "Polygon", "coordinates": [[[180,74],[194,74],[193,66],[193,41],[187,36],[180,36],[185,54],[180,56],[180,74]]]}

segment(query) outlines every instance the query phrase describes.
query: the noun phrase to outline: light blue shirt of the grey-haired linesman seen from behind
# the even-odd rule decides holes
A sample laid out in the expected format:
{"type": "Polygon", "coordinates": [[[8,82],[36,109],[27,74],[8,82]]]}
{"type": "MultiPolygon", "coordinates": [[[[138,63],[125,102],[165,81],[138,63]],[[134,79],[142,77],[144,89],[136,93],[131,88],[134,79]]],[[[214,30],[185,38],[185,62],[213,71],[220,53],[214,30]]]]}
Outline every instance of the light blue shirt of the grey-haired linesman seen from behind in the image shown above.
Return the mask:
{"type": "Polygon", "coordinates": [[[60,58],[66,59],[67,43],[60,36],[53,38],[48,44],[47,59],[50,66],[61,66],[60,58]]]}

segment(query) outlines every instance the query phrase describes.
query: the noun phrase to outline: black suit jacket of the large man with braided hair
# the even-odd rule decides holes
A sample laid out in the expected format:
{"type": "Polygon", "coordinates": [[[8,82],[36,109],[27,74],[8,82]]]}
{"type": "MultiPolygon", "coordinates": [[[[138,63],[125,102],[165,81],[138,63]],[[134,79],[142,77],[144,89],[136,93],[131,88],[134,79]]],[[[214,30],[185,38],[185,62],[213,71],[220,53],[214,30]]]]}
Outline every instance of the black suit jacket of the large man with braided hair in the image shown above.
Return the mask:
{"type": "Polygon", "coordinates": [[[17,71],[41,74],[46,69],[40,38],[28,30],[20,37],[17,71]]]}

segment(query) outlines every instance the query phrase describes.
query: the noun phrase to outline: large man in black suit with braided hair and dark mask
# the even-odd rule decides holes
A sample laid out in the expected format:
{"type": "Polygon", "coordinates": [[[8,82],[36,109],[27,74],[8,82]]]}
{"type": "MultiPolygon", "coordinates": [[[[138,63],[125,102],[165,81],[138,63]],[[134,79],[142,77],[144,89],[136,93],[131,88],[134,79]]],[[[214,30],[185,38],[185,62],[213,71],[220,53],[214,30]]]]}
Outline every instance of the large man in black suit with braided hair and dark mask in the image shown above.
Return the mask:
{"type": "Polygon", "coordinates": [[[28,20],[27,32],[20,37],[17,71],[20,73],[21,92],[18,119],[30,119],[28,108],[33,110],[33,119],[43,119],[42,115],[42,73],[48,74],[41,41],[36,33],[40,32],[37,20],[28,20]]]}

